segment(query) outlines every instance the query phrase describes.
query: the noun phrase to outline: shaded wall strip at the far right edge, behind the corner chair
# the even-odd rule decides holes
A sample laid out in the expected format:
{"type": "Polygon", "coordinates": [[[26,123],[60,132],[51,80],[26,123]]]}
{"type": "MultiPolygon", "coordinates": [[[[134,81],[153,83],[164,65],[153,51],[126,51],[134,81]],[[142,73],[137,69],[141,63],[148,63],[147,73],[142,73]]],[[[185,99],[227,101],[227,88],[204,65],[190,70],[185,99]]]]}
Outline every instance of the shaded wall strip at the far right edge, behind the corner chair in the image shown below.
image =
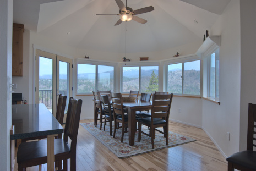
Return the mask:
{"type": "Polygon", "coordinates": [[[240,150],[246,149],[248,103],[256,103],[256,1],[241,1],[240,150]]]}

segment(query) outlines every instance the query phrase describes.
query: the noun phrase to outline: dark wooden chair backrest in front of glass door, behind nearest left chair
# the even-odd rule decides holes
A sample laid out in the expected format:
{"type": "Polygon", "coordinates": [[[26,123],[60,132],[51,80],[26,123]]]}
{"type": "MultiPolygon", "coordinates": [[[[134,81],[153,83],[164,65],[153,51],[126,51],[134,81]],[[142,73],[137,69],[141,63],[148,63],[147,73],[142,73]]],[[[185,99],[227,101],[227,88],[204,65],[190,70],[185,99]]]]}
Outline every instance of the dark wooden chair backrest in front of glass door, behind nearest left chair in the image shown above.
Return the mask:
{"type": "Polygon", "coordinates": [[[57,112],[55,118],[58,120],[59,124],[63,125],[63,118],[65,113],[67,96],[59,95],[58,104],[57,104],[57,112]]]}

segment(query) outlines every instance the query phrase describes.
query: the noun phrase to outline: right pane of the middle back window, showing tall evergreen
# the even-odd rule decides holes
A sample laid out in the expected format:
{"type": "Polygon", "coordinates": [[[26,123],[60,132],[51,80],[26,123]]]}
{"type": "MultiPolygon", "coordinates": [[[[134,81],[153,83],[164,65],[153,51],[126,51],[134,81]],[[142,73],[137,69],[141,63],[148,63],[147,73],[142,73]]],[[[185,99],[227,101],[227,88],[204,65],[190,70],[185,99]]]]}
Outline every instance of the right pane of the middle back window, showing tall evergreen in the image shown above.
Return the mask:
{"type": "Polygon", "coordinates": [[[158,91],[158,66],[141,67],[140,91],[155,93],[158,91]]]}

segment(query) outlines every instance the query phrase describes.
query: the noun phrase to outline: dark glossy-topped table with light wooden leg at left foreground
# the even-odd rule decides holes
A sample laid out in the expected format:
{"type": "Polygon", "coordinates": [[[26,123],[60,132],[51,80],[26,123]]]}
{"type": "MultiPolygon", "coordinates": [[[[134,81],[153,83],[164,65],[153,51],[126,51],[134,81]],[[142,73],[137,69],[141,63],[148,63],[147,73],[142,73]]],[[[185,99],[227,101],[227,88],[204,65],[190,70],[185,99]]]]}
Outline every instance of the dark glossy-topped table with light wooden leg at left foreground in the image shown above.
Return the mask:
{"type": "Polygon", "coordinates": [[[10,140],[47,136],[47,170],[55,170],[54,137],[64,129],[45,104],[12,105],[12,125],[10,140]]]}

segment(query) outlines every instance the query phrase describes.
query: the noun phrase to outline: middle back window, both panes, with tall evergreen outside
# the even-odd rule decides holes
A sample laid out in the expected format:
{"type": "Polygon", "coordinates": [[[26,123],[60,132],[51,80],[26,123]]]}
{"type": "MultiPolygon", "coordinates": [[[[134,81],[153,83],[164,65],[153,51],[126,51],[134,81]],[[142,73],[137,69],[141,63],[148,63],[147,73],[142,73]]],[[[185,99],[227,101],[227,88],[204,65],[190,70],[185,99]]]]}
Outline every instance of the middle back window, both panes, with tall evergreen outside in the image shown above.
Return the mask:
{"type": "Polygon", "coordinates": [[[123,67],[122,92],[140,91],[153,93],[158,91],[158,66],[123,67]]]}

